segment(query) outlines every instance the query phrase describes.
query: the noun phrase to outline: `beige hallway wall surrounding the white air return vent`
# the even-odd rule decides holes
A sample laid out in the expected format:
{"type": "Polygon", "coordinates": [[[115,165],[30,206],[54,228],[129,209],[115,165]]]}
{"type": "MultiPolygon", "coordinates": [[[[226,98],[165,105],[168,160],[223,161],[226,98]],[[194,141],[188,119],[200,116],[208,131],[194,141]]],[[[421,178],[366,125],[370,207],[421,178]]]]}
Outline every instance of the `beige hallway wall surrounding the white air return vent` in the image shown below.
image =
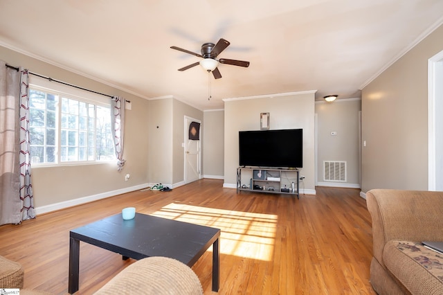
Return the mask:
{"type": "Polygon", "coordinates": [[[360,111],[360,98],[316,102],[318,185],[360,188],[360,111]],[[346,181],[324,181],[323,161],[346,161],[346,181]]]}

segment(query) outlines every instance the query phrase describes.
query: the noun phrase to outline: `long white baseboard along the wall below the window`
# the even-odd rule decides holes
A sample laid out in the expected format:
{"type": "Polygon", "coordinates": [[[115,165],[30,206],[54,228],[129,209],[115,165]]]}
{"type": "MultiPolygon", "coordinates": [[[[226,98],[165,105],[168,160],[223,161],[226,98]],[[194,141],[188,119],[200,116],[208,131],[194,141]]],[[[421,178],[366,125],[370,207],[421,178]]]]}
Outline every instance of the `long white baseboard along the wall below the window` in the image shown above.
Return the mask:
{"type": "Polygon", "coordinates": [[[80,197],[78,199],[70,199],[69,201],[59,202],[55,204],[50,204],[46,206],[39,206],[35,208],[35,214],[44,214],[52,211],[57,211],[64,208],[69,208],[72,206],[77,206],[93,201],[97,201],[99,199],[105,199],[107,197],[114,197],[115,195],[120,195],[124,193],[129,193],[134,190],[141,190],[142,188],[147,188],[148,186],[151,186],[150,184],[139,184],[138,186],[131,186],[129,188],[120,188],[119,190],[111,190],[109,192],[100,193],[97,195],[90,195],[87,197],[80,197]]]}

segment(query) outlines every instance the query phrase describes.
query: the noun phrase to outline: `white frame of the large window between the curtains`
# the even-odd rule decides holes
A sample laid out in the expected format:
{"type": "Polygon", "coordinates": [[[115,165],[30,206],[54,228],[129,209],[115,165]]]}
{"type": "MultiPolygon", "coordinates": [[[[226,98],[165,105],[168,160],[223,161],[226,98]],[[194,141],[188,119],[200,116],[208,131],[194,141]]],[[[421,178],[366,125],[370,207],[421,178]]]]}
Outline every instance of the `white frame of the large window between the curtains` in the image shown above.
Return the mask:
{"type": "MultiPolygon", "coordinates": [[[[41,78],[36,75],[30,75],[29,76],[29,89],[33,89],[36,91],[42,91],[45,93],[51,93],[59,96],[59,105],[62,100],[62,97],[64,98],[71,98],[73,100],[78,100],[80,102],[87,102],[92,105],[100,106],[100,107],[108,107],[111,109],[111,98],[107,96],[102,96],[98,93],[93,93],[90,91],[78,89],[75,87],[71,87],[69,85],[65,85],[59,82],[51,81],[46,78],[41,78]]],[[[87,160],[87,161],[60,161],[60,134],[61,134],[61,120],[60,120],[60,114],[61,114],[61,108],[57,107],[59,120],[57,120],[57,161],[55,163],[33,163],[33,167],[48,167],[48,166],[81,166],[81,165],[93,165],[93,164],[102,164],[102,163],[114,163],[117,161],[116,155],[114,153],[114,159],[110,160],[87,160]]],[[[96,131],[96,118],[94,118],[94,132],[96,131]]],[[[96,138],[94,138],[94,141],[96,141],[96,138]]],[[[94,148],[96,148],[96,144],[94,145],[94,148]]]]}

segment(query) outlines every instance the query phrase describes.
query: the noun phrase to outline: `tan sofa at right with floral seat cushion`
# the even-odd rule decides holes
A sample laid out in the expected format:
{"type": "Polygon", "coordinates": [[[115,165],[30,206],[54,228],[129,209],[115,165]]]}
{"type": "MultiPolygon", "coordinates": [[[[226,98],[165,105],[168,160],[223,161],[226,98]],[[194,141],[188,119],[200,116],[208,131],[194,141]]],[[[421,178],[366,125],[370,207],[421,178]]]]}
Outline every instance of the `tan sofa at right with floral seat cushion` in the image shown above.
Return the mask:
{"type": "Polygon", "coordinates": [[[443,241],[443,192],[370,190],[373,257],[370,283],[378,294],[443,294],[443,255],[423,241],[443,241]]]}

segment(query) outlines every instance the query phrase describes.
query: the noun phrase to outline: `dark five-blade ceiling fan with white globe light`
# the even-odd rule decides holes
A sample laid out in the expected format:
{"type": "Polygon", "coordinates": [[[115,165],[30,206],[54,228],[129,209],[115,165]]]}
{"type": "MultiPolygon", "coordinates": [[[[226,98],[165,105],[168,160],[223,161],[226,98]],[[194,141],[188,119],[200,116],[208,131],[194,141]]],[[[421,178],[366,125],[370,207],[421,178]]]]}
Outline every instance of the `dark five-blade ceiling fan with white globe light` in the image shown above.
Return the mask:
{"type": "Polygon", "coordinates": [[[186,71],[187,69],[200,64],[206,71],[212,71],[215,79],[219,79],[221,78],[221,73],[217,68],[219,63],[231,64],[233,66],[244,66],[245,68],[249,66],[249,62],[244,62],[242,60],[228,60],[226,58],[220,58],[219,60],[215,59],[215,57],[217,57],[221,53],[221,51],[224,51],[226,47],[229,46],[229,44],[230,43],[223,38],[219,39],[219,42],[217,42],[217,44],[205,43],[201,45],[201,54],[193,53],[192,51],[188,51],[177,46],[171,46],[171,48],[203,58],[203,60],[201,60],[200,62],[195,62],[188,66],[184,66],[183,68],[179,69],[179,71],[186,71]]]}

